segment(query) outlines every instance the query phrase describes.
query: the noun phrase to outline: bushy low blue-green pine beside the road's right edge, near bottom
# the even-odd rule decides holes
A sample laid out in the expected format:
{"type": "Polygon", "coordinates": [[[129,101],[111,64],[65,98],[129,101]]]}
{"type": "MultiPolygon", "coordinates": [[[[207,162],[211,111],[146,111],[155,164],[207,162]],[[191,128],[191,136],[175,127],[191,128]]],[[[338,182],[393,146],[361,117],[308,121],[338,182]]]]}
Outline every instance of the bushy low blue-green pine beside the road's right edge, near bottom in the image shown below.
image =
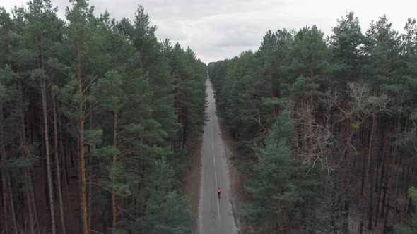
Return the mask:
{"type": "Polygon", "coordinates": [[[293,217],[302,213],[300,209],[309,209],[317,199],[315,190],[320,183],[312,175],[314,172],[306,173],[305,165],[293,156],[293,141],[293,122],[289,113],[283,112],[276,118],[264,146],[255,149],[257,164],[246,187],[253,202],[243,207],[241,216],[256,227],[257,233],[278,231],[286,218],[283,209],[295,225],[293,217]]]}

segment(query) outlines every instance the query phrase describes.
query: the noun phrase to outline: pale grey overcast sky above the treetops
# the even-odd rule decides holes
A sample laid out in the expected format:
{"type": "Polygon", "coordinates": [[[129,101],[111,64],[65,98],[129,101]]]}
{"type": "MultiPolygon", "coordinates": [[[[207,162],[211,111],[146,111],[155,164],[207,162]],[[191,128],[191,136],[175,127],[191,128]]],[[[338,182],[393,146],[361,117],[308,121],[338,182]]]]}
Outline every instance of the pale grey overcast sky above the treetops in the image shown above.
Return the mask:
{"type": "MultiPolygon", "coordinates": [[[[0,6],[26,6],[24,0],[0,0],[0,6]]],[[[52,0],[64,18],[67,0],[52,0]]],[[[347,11],[355,12],[363,32],[371,20],[387,15],[402,32],[407,18],[417,18],[417,0],[90,0],[95,14],[109,11],[117,20],[132,19],[139,4],[158,26],[158,39],[191,47],[209,63],[256,51],[267,30],[299,30],[317,25],[325,35],[347,11]]]]}

